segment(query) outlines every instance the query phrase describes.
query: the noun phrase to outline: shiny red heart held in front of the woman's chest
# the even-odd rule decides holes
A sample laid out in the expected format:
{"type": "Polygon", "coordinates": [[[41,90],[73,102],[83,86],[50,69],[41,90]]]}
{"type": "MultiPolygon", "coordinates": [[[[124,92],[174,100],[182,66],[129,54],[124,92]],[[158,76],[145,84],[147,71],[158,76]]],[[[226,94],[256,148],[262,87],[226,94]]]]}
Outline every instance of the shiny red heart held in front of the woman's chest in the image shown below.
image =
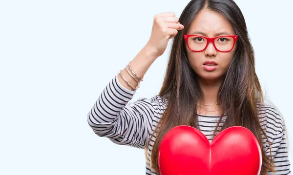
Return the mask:
{"type": "Polygon", "coordinates": [[[250,130],[233,126],[212,142],[190,126],[176,126],[158,151],[160,175],[259,175],[261,148],[250,130]]]}

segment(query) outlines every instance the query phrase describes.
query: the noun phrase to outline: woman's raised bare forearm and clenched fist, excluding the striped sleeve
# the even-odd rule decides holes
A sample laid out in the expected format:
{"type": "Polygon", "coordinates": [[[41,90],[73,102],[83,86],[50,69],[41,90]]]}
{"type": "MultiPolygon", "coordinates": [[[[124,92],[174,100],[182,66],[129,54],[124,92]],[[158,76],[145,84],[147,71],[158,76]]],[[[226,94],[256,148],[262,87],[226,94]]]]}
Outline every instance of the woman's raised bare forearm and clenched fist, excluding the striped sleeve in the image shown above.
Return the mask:
{"type": "MultiPolygon", "coordinates": [[[[143,77],[155,59],[165,52],[168,40],[175,37],[178,30],[183,28],[184,26],[179,23],[179,19],[175,17],[174,12],[156,15],[146,46],[129,63],[133,71],[138,76],[143,77]]],[[[126,68],[123,69],[122,75],[133,88],[136,88],[138,82],[128,74],[126,68]]],[[[121,75],[118,75],[118,79],[126,89],[132,90],[121,75]]]]}

